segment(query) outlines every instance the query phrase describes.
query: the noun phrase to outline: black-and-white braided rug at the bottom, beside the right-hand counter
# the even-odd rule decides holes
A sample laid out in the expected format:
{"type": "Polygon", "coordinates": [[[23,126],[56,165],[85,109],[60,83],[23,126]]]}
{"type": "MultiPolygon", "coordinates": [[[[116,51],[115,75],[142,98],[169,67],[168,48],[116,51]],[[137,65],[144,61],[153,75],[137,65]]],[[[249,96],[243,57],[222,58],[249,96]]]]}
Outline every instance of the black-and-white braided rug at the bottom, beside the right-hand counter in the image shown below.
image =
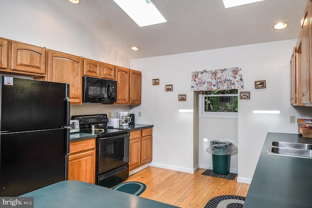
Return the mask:
{"type": "Polygon", "coordinates": [[[235,195],[216,196],[209,200],[205,208],[242,208],[245,197],[235,195]]]}

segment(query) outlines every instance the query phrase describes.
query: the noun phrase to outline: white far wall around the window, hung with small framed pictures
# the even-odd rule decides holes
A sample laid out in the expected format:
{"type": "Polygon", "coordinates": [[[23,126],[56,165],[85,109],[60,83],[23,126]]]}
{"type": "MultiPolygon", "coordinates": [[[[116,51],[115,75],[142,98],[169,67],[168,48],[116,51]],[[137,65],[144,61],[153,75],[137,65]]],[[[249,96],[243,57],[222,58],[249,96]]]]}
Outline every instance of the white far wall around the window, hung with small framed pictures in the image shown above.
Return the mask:
{"type": "Polygon", "coordinates": [[[189,171],[196,166],[209,167],[212,160],[202,137],[232,139],[238,154],[232,156],[231,168],[237,167],[238,181],[250,183],[267,132],[297,133],[297,125],[290,124],[289,116],[312,117],[311,108],[292,107],[289,101],[289,60],[295,43],[286,40],[131,60],[131,68],[143,75],[142,104],[134,109],[142,111],[142,117],[137,120],[155,125],[152,165],[189,171]],[[240,91],[251,92],[251,99],[238,100],[237,120],[200,118],[199,136],[193,138],[197,128],[193,113],[178,113],[180,108],[196,108],[190,91],[191,72],[232,66],[242,69],[244,89],[240,91]],[[153,78],[159,78],[160,85],[153,86],[153,78]],[[254,89],[257,80],[266,80],[267,87],[254,89]],[[165,92],[165,84],[173,84],[173,92],[165,92]],[[177,101],[178,94],[186,94],[187,101],[177,101]],[[253,114],[253,110],[280,110],[281,114],[253,114]],[[198,139],[199,145],[195,156],[193,139],[198,139]],[[198,157],[199,164],[190,157],[198,157]]]}

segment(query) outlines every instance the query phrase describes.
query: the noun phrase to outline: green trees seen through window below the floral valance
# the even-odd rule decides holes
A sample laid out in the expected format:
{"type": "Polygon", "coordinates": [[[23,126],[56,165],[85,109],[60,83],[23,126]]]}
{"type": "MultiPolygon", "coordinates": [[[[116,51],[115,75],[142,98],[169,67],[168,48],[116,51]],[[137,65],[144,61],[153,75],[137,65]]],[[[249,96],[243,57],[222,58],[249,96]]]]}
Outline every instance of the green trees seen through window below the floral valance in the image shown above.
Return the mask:
{"type": "Polygon", "coordinates": [[[237,90],[206,91],[205,112],[238,112],[237,90]]]}

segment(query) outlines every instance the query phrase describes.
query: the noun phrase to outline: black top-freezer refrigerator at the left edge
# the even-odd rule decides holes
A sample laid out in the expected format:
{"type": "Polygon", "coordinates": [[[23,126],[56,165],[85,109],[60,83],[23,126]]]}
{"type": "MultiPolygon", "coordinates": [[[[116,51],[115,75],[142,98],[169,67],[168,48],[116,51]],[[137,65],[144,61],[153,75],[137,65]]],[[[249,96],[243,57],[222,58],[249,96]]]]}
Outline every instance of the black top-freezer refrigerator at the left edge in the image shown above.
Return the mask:
{"type": "Polygon", "coordinates": [[[0,80],[0,196],[67,180],[69,84],[0,80]]]}

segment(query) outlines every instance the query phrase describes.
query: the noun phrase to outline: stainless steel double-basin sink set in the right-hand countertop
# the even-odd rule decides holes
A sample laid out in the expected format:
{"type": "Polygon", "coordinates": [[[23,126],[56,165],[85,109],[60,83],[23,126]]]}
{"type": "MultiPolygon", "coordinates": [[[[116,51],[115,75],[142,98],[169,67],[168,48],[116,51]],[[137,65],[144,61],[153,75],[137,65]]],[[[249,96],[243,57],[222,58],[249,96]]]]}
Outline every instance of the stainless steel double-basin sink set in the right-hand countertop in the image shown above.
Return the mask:
{"type": "Polygon", "coordinates": [[[295,157],[312,157],[312,144],[270,141],[267,153],[295,157]]]}

